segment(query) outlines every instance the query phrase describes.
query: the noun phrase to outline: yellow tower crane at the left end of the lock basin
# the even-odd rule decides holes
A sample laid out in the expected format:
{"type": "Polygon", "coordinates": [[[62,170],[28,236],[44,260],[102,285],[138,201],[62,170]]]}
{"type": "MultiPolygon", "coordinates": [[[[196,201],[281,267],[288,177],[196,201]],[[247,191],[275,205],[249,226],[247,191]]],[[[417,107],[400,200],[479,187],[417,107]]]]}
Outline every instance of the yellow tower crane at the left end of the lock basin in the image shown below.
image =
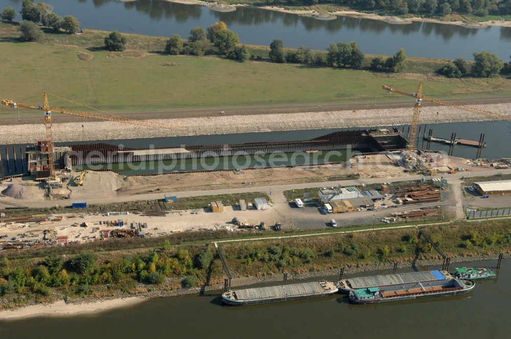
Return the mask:
{"type": "MultiPolygon", "coordinates": [[[[54,95],[54,94],[52,94],[52,95],[54,95]]],[[[57,95],[55,95],[55,96],[57,96],[57,95]]],[[[60,96],[57,96],[57,98],[60,98],[60,96]]],[[[64,99],[64,98],[61,98],[61,99],[64,99]]],[[[75,111],[75,110],[71,110],[71,109],[50,107],[50,105],[48,104],[48,93],[47,92],[44,92],[44,105],[43,106],[20,104],[20,103],[16,103],[13,100],[2,100],[2,105],[11,106],[12,108],[24,107],[24,108],[31,108],[31,109],[37,109],[40,111],[44,111],[44,126],[46,128],[46,139],[48,142],[48,161],[49,161],[49,167],[50,167],[50,176],[49,176],[50,181],[57,179],[57,176],[55,173],[55,162],[53,159],[52,113],[56,112],[56,113],[76,115],[76,116],[81,116],[81,117],[86,117],[86,118],[108,120],[108,121],[113,121],[113,122],[147,126],[147,127],[159,127],[159,128],[164,128],[164,129],[181,130],[181,131],[186,130],[185,128],[180,127],[180,126],[169,126],[169,125],[164,125],[164,124],[158,124],[158,123],[151,122],[150,120],[128,119],[128,118],[124,118],[124,117],[117,116],[117,115],[111,115],[106,112],[103,112],[105,114],[98,114],[98,113],[91,113],[91,112],[75,111]]]]}

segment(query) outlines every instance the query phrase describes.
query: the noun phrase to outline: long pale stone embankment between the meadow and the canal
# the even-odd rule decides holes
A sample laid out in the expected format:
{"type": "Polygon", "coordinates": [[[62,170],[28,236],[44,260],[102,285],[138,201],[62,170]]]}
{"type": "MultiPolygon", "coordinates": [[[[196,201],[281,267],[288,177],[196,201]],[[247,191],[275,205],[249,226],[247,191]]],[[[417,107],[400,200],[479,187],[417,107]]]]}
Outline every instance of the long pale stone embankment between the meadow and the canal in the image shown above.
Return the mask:
{"type": "MultiPolygon", "coordinates": [[[[511,104],[473,105],[487,111],[511,116],[511,104]]],[[[212,135],[249,132],[296,131],[330,128],[399,126],[411,123],[412,108],[366,109],[327,112],[230,115],[155,119],[154,122],[177,125],[186,131],[175,131],[115,122],[53,124],[56,142],[169,137],[176,135],[212,135]],[[83,125],[83,132],[82,132],[83,125]]],[[[424,107],[422,124],[478,122],[491,118],[443,106],[424,107]]],[[[45,139],[43,124],[0,126],[0,144],[31,143],[45,139]]]]}

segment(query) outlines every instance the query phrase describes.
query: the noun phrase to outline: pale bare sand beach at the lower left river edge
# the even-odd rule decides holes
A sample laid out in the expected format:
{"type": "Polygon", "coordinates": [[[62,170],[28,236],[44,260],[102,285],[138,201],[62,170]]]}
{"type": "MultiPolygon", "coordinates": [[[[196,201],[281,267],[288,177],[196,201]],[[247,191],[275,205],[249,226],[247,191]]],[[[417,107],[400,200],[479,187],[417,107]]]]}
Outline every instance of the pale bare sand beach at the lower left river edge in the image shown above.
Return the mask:
{"type": "Polygon", "coordinates": [[[141,303],[145,298],[119,298],[80,304],[66,304],[63,300],[53,304],[31,305],[16,309],[0,311],[0,320],[27,319],[33,317],[67,317],[103,312],[106,310],[132,306],[141,303]]]}

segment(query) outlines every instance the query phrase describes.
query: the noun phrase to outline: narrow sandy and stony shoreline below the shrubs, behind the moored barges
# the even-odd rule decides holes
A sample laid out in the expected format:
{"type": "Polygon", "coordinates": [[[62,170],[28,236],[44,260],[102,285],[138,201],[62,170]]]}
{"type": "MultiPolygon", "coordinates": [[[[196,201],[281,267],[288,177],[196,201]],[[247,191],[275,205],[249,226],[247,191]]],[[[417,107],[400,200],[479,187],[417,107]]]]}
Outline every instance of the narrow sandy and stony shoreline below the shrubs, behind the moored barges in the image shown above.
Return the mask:
{"type": "MultiPolygon", "coordinates": [[[[485,255],[485,256],[476,256],[476,257],[456,257],[451,258],[451,268],[454,268],[454,263],[456,262],[471,262],[471,261],[482,261],[482,260],[496,260],[497,255],[485,255]]],[[[442,265],[442,260],[439,259],[429,259],[429,260],[417,260],[414,263],[412,262],[401,262],[398,264],[398,269],[405,269],[411,267],[421,267],[421,266],[439,266],[442,265]]],[[[393,267],[393,263],[378,263],[378,264],[370,264],[363,265],[361,267],[346,267],[344,274],[353,275],[361,272],[369,272],[374,271],[375,274],[390,274],[388,272],[393,267]],[[383,272],[386,271],[386,272],[383,272]]],[[[314,279],[314,278],[325,278],[325,277],[334,277],[339,274],[339,269],[332,269],[326,271],[315,271],[308,272],[305,274],[290,276],[288,279],[294,282],[299,282],[299,280],[306,279],[314,279]]],[[[264,277],[239,277],[231,280],[231,284],[237,287],[243,287],[258,283],[269,283],[269,282],[281,282],[281,275],[271,275],[264,277]]],[[[206,286],[204,291],[219,291],[222,288],[222,285],[212,285],[206,286]]],[[[81,316],[84,314],[90,313],[98,313],[103,312],[115,308],[133,306],[138,303],[143,302],[144,300],[151,298],[162,298],[162,297],[172,297],[172,296],[180,296],[187,294],[196,294],[198,293],[200,288],[189,288],[189,289],[177,289],[177,290],[157,290],[155,289],[153,292],[144,293],[141,296],[131,297],[131,298],[117,298],[117,299],[109,299],[109,300],[97,300],[90,302],[91,298],[89,297],[86,302],[80,302],[80,300],[72,300],[70,303],[65,303],[64,301],[57,301],[52,304],[39,304],[39,305],[30,305],[25,307],[20,307],[16,309],[2,310],[0,311],[0,320],[16,320],[16,319],[26,319],[31,317],[68,317],[68,316],[81,316]]]]}

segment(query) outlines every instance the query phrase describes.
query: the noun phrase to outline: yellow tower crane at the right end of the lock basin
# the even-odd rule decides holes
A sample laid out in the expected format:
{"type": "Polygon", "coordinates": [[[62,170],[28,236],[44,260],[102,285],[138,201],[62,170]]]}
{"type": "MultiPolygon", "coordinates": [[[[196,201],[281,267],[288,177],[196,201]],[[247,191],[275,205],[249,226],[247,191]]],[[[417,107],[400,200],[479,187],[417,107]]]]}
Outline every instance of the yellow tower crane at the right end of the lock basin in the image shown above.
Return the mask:
{"type": "Polygon", "coordinates": [[[412,124],[411,124],[411,129],[410,129],[410,139],[408,140],[409,141],[408,142],[408,151],[409,152],[413,152],[415,150],[415,133],[417,131],[417,125],[419,125],[419,111],[420,111],[421,104],[422,104],[423,100],[431,102],[431,103],[435,103],[438,105],[442,105],[442,106],[456,107],[456,108],[462,109],[464,111],[469,111],[469,112],[489,116],[491,118],[494,118],[495,120],[511,121],[511,117],[509,117],[509,116],[485,111],[485,110],[477,108],[477,107],[471,107],[471,106],[467,106],[467,105],[460,105],[460,104],[451,103],[448,101],[438,100],[438,99],[431,98],[431,96],[423,95],[422,94],[422,82],[419,83],[419,89],[417,89],[417,92],[412,92],[412,93],[401,91],[399,89],[395,89],[395,88],[392,88],[387,85],[382,85],[382,88],[389,93],[394,92],[394,93],[399,93],[399,94],[403,94],[403,95],[407,95],[407,96],[411,96],[412,98],[415,98],[415,106],[413,107],[413,118],[412,118],[412,124]]]}

